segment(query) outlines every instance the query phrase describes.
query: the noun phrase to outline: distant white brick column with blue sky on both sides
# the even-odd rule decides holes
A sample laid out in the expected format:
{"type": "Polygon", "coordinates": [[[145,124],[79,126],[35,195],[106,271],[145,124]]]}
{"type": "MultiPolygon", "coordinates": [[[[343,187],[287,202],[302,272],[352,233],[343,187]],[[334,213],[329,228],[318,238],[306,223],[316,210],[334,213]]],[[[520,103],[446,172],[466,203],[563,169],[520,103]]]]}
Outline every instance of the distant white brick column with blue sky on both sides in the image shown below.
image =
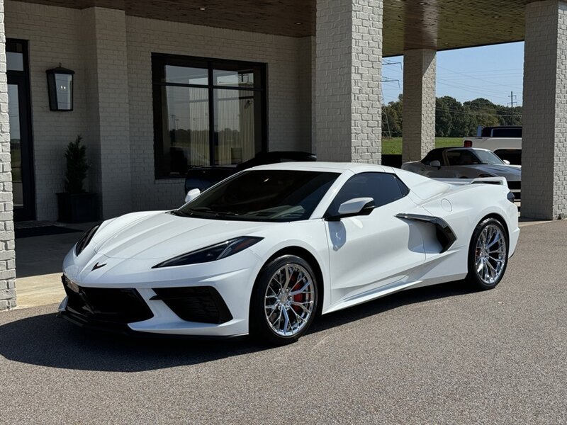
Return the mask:
{"type": "Polygon", "coordinates": [[[435,147],[435,77],[437,52],[403,54],[402,161],[419,161],[435,147]]]}

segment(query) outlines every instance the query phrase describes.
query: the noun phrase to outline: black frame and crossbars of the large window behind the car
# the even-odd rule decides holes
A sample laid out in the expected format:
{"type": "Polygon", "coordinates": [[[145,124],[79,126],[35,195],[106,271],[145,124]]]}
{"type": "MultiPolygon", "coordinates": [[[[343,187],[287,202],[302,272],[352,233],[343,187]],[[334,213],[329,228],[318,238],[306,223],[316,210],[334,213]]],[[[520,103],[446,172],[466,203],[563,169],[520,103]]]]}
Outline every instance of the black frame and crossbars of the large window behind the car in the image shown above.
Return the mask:
{"type": "MultiPolygon", "coordinates": [[[[205,68],[203,68],[205,69],[205,68]]],[[[208,125],[209,125],[209,157],[210,166],[215,166],[215,89],[217,90],[246,90],[255,91],[261,94],[262,106],[260,111],[261,126],[262,130],[259,137],[260,140],[260,150],[256,152],[267,152],[268,147],[268,84],[267,84],[267,72],[266,64],[262,62],[247,62],[240,60],[223,60],[219,58],[212,57],[196,57],[196,56],[184,56],[184,55],[169,55],[165,53],[152,53],[152,107],[153,107],[153,118],[154,118],[154,175],[156,180],[165,179],[179,179],[184,176],[172,176],[171,174],[165,174],[162,172],[163,164],[163,108],[162,103],[162,87],[164,86],[178,86],[178,87],[188,87],[188,88],[199,88],[208,89],[208,125]],[[182,83],[171,83],[164,81],[165,77],[165,67],[167,65],[176,67],[195,67],[196,64],[206,64],[208,70],[208,84],[182,84],[182,83]],[[260,72],[260,86],[259,87],[241,87],[241,86],[228,86],[228,85],[218,85],[213,84],[213,69],[219,69],[219,67],[259,67],[260,72]]]]}

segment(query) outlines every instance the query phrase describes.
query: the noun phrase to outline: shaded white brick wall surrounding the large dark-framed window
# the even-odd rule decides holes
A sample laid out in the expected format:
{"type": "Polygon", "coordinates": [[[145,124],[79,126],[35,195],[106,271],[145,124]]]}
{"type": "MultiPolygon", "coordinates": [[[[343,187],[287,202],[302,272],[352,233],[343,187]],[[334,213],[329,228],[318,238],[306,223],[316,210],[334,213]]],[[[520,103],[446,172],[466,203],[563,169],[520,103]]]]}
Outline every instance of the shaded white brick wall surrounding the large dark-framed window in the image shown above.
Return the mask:
{"type": "Polygon", "coordinates": [[[310,79],[301,65],[304,40],[133,16],[126,17],[126,26],[135,210],[173,208],[183,199],[181,179],[154,178],[152,52],[266,63],[269,149],[310,150],[300,101],[310,79]]]}

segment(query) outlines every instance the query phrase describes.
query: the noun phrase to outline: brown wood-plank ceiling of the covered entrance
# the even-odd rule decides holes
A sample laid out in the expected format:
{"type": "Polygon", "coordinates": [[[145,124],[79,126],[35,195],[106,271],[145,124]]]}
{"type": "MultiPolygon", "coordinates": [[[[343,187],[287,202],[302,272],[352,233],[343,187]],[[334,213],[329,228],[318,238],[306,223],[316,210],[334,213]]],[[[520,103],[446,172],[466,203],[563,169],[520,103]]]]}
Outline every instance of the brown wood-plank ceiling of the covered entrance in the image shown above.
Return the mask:
{"type": "MultiPolygon", "coordinates": [[[[315,0],[18,1],[119,8],[131,16],[256,33],[315,35],[315,0]]],[[[421,47],[447,50],[523,40],[525,5],[530,1],[534,0],[383,0],[383,55],[421,47]]]]}

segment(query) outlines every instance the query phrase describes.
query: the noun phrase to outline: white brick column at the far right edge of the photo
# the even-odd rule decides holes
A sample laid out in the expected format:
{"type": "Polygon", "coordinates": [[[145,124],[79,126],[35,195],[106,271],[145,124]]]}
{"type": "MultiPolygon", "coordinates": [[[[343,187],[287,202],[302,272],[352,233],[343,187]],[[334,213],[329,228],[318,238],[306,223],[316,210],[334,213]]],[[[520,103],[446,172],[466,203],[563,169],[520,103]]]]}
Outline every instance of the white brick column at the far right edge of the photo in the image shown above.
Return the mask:
{"type": "Polygon", "coordinates": [[[567,213],[567,3],[526,6],[522,217],[567,213]]]}

